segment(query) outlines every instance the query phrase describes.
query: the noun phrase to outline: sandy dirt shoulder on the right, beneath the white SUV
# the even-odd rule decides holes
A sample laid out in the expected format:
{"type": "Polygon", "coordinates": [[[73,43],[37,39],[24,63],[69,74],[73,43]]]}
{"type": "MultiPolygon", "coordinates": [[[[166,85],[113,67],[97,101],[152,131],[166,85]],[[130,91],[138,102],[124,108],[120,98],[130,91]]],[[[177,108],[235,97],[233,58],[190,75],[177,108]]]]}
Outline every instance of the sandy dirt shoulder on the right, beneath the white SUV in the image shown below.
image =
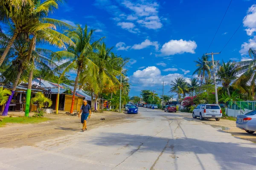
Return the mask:
{"type": "Polygon", "coordinates": [[[193,119],[192,113],[180,113],[180,115],[182,115],[186,120],[202,122],[206,125],[212,125],[212,127],[215,127],[218,130],[231,133],[233,136],[256,143],[256,133],[249,134],[244,130],[237,128],[236,121],[227,119],[221,119],[220,121],[215,121],[215,119],[205,119],[204,121],[201,121],[200,119],[193,119]]]}

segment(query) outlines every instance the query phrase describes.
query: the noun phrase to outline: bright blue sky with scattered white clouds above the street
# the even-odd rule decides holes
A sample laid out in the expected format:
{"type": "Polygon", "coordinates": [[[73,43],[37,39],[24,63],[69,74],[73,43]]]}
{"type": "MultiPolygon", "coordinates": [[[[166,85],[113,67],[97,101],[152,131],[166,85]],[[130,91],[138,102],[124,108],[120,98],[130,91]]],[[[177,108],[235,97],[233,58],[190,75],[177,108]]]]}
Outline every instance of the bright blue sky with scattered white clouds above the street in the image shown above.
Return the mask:
{"type": "MultiPolygon", "coordinates": [[[[230,0],[68,0],[51,17],[97,29],[108,47],[129,57],[130,96],[140,90],[169,95],[169,82],[192,77],[194,60],[207,52],[230,0]],[[157,89],[159,88],[159,89],[157,89]]],[[[219,52],[241,24],[255,0],[232,1],[208,52],[219,52]]],[[[241,61],[256,48],[256,9],[215,60],[241,61]]]]}

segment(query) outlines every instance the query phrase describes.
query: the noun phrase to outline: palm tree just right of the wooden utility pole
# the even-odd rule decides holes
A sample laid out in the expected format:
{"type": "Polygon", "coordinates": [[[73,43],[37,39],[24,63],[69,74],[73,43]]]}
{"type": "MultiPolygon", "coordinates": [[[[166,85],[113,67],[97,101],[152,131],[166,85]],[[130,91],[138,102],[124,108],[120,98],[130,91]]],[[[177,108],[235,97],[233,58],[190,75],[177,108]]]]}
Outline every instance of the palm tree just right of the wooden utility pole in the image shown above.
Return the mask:
{"type": "Polygon", "coordinates": [[[237,79],[236,74],[237,74],[237,68],[236,64],[228,61],[225,63],[222,60],[221,66],[216,74],[217,76],[217,81],[222,83],[222,86],[227,90],[227,94],[230,97],[230,91],[229,91],[229,86],[230,83],[232,83],[234,80],[237,79]]]}

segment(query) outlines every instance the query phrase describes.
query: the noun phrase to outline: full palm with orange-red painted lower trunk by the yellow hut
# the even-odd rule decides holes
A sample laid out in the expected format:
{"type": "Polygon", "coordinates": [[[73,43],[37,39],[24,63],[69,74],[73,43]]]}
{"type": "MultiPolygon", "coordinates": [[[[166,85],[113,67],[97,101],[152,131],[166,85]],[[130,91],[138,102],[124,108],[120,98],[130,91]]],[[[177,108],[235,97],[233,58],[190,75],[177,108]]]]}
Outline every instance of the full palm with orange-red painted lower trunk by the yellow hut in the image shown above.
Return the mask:
{"type": "MultiPolygon", "coordinates": [[[[67,51],[56,52],[62,59],[68,59],[67,62],[64,62],[59,66],[62,70],[62,75],[72,70],[76,71],[76,80],[73,89],[70,113],[73,113],[76,89],[81,72],[86,73],[87,80],[90,82],[91,87],[97,87],[96,75],[98,74],[99,69],[93,61],[97,58],[94,57],[95,50],[99,48],[99,43],[103,38],[93,41],[94,31],[95,30],[88,31],[87,26],[85,26],[85,28],[81,28],[80,25],[77,25],[77,28],[74,31],[65,31],[65,34],[73,40],[75,46],[70,46],[67,51]]],[[[98,89],[96,88],[96,90],[98,89]]]]}

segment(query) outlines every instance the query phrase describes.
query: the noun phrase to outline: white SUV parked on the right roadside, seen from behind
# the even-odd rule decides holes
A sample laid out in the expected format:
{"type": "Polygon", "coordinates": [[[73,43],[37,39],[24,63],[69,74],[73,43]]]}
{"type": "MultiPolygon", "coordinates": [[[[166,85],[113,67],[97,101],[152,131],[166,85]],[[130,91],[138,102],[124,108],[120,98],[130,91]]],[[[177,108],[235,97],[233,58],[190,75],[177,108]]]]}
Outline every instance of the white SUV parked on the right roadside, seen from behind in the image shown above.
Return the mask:
{"type": "Polygon", "coordinates": [[[204,120],[205,118],[215,118],[216,121],[219,121],[222,117],[222,111],[219,105],[211,105],[211,104],[204,104],[198,105],[192,113],[192,117],[196,119],[200,117],[200,120],[204,120]]]}

